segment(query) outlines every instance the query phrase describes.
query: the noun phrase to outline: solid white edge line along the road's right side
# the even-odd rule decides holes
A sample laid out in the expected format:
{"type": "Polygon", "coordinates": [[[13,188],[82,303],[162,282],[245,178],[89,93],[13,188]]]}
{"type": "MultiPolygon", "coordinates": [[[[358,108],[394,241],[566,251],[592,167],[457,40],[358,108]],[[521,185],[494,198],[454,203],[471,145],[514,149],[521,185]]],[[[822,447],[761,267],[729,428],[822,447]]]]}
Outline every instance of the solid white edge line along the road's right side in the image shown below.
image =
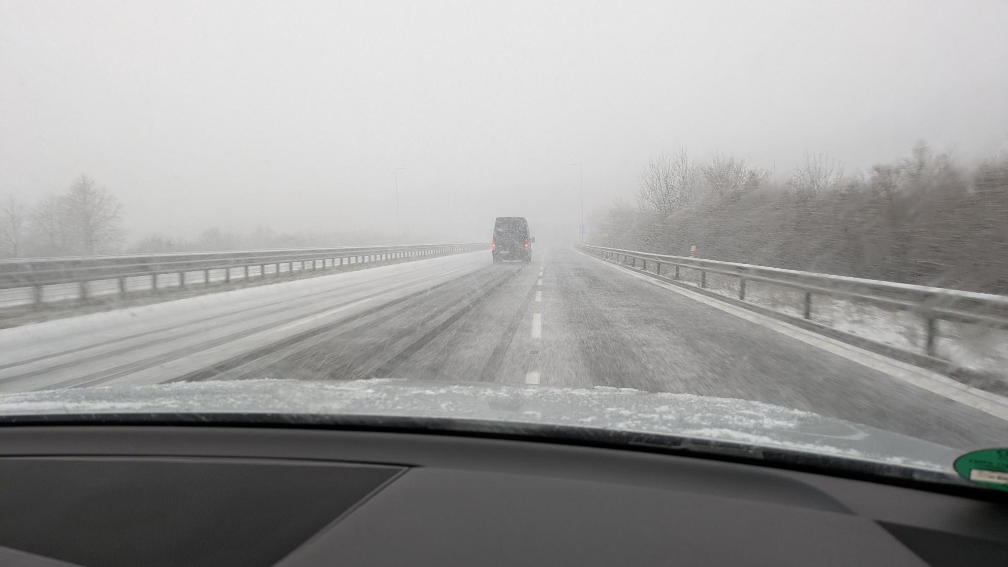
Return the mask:
{"type": "Polygon", "coordinates": [[[959,402],[964,406],[969,406],[970,408],[973,408],[975,410],[980,410],[981,412],[990,414],[997,418],[1001,418],[1002,420],[1008,420],[1008,399],[1000,396],[996,393],[992,393],[990,391],[985,391],[982,389],[975,388],[973,386],[966,385],[962,382],[958,382],[950,378],[949,376],[941,375],[937,372],[932,372],[925,368],[920,368],[918,366],[914,366],[913,364],[908,364],[901,360],[888,358],[876,352],[872,352],[870,350],[850,345],[843,341],[833,339],[831,337],[813,333],[812,331],[796,327],[794,325],[785,323],[783,321],[778,321],[777,319],[774,319],[772,317],[767,317],[765,315],[756,312],[748,311],[740,307],[736,307],[734,305],[727,304],[725,302],[721,302],[713,298],[709,298],[702,294],[690,292],[689,290],[683,290],[678,286],[674,286],[672,284],[666,284],[665,281],[662,281],[660,279],[649,277],[643,273],[639,273],[632,269],[614,264],[612,262],[603,260],[601,258],[597,258],[587,252],[581,252],[581,253],[592,258],[593,260],[608,265],[613,269],[624,271],[626,273],[629,273],[630,275],[633,275],[634,277],[643,279],[644,281],[649,281],[659,288],[664,288],[666,290],[675,292],[680,296],[684,296],[691,300],[701,302],[705,305],[709,305],[711,307],[720,309],[721,311],[730,313],[741,319],[751,321],[753,323],[756,323],[757,325],[761,325],[763,327],[776,331],[782,335],[786,335],[793,339],[797,339],[805,344],[809,344],[822,348],[823,350],[832,352],[834,354],[838,354],[840,356],[843,356],[844,358],[847,358],[848,360],[852,360],[864,366],[868,366],[869,368],[889,374],[894,378],[897,378],[907,383],[911,383],[922,389],[926,389],[927,391],[930,391],[932,393],[936,393],[943,398],[948,398],[949,400],[959,402]]]}

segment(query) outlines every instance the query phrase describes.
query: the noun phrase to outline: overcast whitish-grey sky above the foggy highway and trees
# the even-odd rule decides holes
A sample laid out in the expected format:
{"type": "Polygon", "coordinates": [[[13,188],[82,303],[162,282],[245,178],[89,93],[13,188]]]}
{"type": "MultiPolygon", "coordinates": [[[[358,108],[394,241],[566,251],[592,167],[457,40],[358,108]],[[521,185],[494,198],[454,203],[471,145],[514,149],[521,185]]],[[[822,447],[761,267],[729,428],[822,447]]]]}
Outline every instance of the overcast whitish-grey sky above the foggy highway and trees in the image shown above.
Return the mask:
{"type": "Polygon", "coordinates": [[[847,171],[1008,141],[1008,2],[0,0],[0,194],[87,174],[134,238],[574,238],[685,143],[847,171]]]}

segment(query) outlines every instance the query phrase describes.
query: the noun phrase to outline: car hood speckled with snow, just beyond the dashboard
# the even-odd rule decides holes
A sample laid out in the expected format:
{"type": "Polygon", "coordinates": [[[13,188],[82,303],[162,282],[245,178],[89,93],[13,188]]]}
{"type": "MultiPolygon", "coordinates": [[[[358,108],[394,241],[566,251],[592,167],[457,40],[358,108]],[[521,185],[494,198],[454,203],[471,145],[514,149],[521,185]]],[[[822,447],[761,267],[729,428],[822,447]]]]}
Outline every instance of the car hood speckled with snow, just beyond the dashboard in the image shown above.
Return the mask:
{"type": "Polygon", "coordinates": [[[596,386],[255,379],[0,395],[0,417],[273,414],[479,420],[671,435],[951,472],[952,448],[760,402],[596,386]]]}

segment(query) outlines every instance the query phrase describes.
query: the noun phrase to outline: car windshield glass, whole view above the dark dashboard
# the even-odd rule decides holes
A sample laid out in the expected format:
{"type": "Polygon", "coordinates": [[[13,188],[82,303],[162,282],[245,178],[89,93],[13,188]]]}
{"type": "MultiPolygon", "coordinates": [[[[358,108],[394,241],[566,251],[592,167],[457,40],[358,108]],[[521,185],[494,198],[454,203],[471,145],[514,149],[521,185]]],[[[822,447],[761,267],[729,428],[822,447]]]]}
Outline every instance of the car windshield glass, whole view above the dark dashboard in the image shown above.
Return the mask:
{"type": "Polygon", "coordinates": [[[1000,1],[5,1],[0,416],[955,474],[1008,445],[1006,29],[1000,1]]]}

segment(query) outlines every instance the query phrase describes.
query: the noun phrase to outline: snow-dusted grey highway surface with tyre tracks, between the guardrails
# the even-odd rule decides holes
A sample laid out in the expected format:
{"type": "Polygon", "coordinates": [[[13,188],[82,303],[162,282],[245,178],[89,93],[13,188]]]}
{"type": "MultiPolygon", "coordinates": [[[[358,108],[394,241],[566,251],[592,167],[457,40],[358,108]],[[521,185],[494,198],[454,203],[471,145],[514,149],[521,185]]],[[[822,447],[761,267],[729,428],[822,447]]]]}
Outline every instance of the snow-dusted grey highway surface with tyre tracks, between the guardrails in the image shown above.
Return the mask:
{"type": "Polygon", "coordinates": [[[966,447],[1008,404],[569,247],[489,251],[0,330],[0,391],[393,377],[738,398],[966,447]]]}

